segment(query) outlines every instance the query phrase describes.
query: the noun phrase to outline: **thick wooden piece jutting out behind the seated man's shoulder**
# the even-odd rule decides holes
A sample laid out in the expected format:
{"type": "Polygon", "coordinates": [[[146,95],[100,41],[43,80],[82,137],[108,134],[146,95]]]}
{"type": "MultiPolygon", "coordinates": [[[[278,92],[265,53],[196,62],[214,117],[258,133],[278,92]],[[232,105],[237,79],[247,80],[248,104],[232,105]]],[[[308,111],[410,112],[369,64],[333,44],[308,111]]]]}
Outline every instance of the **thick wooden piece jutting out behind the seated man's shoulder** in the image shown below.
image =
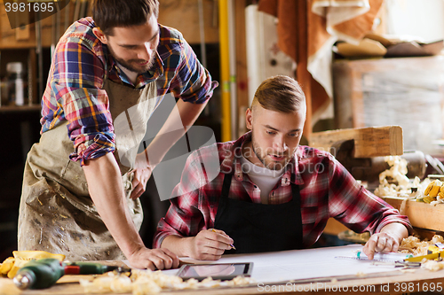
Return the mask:
{"type": "Polygon", "coordinates": [[[402,128],[384,126],[349,128],[315,132],[309,145],[323,151],[337,142],[354,139],[354,158],[371,158],[403,154],[402,128]]]}

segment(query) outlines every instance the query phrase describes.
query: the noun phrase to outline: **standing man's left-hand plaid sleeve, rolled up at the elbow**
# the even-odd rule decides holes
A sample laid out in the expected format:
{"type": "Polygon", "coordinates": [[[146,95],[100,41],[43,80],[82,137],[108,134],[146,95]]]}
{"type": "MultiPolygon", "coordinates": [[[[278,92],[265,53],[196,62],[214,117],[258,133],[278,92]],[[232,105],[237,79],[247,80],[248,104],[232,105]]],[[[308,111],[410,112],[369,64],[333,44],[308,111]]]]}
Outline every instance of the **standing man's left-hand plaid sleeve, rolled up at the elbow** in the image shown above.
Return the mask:
{"type": "Polygon", "coordinates": [[[73,38],[59,42],[44,93],[42,131],[67,120],[67,135],[75,150],[70,159],[81,165],[115,151],[109,100],[101,89],[104,75],[93,44],[73,38]]]}

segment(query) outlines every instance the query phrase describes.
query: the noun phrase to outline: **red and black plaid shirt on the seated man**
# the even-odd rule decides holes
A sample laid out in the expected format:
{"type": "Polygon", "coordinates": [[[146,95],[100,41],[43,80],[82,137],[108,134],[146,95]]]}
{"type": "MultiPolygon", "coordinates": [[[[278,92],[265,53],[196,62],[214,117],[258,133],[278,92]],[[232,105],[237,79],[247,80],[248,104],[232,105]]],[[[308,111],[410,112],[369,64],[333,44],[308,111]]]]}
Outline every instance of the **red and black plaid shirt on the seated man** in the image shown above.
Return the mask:
{"type": "MultiPolygon", "coordinates": [[[[228,198],[261,202],[258,186],[242,172],[239,160],[242,156],[240,147],[250,140],[250,136],[249,132],[235,142],[217,144],[220,172],[207,184],[201,163],[208,162],[205,160],[208,157],[217,156],[211,151],[215,149],[204,147],[188,157],[181,182],[173,191],[179,197],[170,200],[168,213],[159,221],[155,248],[160,247],[163,238],[169,235],[193,237],[202,229],[214,227],[226,174],[234,174],[228,198]],[[181,191],[189,192],[180,194],[181,191]]],[[[328,152],[298,146],[281,181],[268,196],[269,206],[289,202],[292,198],[290,182],[299,185],[300,189],[305,247],[313,245],[321,236],[329,217],[360,233],[367,230],[373,234],[390,222],[400,222],[411,231],[407,216],[400,215],[398,210],[361,187],[328,152]]]]}

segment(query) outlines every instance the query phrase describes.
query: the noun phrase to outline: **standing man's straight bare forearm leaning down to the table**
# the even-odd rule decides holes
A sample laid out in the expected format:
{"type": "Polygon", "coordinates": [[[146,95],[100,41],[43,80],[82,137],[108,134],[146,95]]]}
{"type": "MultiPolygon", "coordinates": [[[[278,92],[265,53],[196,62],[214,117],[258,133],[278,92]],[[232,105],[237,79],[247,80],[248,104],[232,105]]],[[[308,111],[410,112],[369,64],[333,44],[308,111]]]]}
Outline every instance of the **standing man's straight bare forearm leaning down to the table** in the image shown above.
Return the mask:
{"type": "Polygon", "coordinates": [[[122,176],[113,154],[88,160],[83,171],[100,217],[128,258],[144,244],[128,212],[122,176]]]}

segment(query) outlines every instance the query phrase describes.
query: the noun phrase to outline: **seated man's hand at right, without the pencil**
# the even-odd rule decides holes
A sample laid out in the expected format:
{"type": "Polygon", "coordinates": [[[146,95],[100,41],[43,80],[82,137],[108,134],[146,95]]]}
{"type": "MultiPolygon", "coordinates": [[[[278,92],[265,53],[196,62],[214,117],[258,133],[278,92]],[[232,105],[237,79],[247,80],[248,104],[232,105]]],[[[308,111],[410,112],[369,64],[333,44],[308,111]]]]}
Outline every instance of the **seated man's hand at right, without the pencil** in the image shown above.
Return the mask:
{"type": "Polygon", "coordinates": [[[369,260],[373,259],[375,252],[397,252],[405,237],[408,237],[408,229],[401,223],[392,222],[385,225],[380,233],[372,235],[362,251],[369,260]]]}

